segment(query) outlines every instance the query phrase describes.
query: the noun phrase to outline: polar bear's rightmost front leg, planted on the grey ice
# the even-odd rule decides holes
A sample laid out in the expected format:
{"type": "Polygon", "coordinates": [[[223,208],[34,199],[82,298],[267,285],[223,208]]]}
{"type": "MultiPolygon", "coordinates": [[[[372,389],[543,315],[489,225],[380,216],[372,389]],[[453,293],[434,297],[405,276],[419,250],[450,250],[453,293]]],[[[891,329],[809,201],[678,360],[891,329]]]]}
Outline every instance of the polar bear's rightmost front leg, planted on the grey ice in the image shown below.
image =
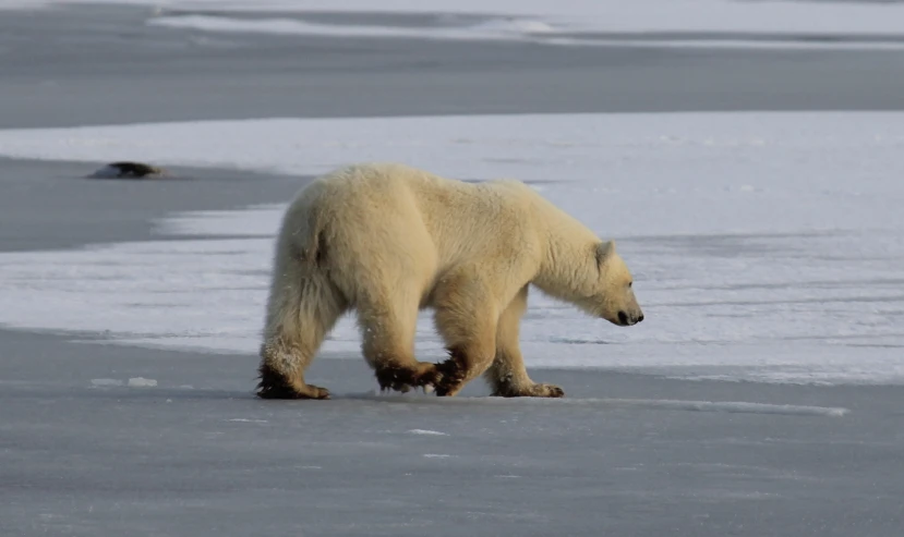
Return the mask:
{"type": "Polygon", "coordinates": [[[518,344],[521,316],[528,307],[528,286],[525,285],[499,316],[496,328],[496,356],[485,378],[493,395],[505,398],[562,398],[565,392],[555,385],[534,382],[528,376],[518,344]]]}

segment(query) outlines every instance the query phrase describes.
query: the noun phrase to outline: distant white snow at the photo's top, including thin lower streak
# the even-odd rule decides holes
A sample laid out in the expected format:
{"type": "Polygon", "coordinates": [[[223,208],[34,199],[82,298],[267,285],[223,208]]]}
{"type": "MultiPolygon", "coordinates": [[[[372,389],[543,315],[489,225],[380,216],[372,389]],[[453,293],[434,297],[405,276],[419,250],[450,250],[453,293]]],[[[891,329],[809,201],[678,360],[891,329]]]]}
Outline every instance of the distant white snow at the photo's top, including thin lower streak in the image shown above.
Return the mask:
{"type": "MultiPolygon", "coordinates": [[[[36,9],[75,3],[71,0],[0,0],[0,9],[36,9]]],[[[538,39],[557,34],[557,42],[642,45],[646,37],[625,41],[586,39],[582,33],[650,32],[821,34],[834,36],[904,34],[904,4],[884,2],[806,2],[734,0],[95,0],[92,3],[137,4],[150,8],[148,24],[216,32],[299,33],[310,35],[408,36],[441,39],[538,39]],[[180,10],[171,13],[167,10],[180,10]],[[205,13],[210,12],[210,13],[205,13]],[[242,12],[272,12],[269,19],[244,19],[242,12]],[[286,13],[361,12],[482,15],[461,24],[448,20],[442,27],[393,25],[386,21],[330,24],[301,22],[286,13]],[[227,15],[231,14],[231,16],[227,15]],[[558,35],[562,34],[562,35],[558,35]]],[[[552,40],[551,42],[556,42],[552,40]]],[[[677,36],[673,46],[695,46],[677,36]]],[[[769,46],[744,36],[708,40],[707,47],[769,46]]],[[[662,45],[662,42],[660,42],[662,45]]],[[[783,45],[788,46],[788,45],[783,45]]],[[[807,47],[864,47],[866,44],[824,41],[807,47]]],[[[869,44],[869,47],[896,47],[869,44]]]]}

